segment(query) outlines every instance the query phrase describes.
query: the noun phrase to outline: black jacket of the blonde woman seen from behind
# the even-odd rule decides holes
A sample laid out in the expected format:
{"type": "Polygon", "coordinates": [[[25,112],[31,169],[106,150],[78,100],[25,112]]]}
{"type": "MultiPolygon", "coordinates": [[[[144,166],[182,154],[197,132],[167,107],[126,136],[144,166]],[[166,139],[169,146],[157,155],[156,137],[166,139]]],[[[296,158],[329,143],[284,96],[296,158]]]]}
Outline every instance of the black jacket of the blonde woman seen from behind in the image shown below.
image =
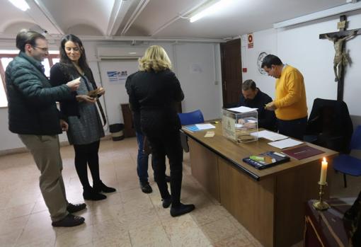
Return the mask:
{"type": "Polygon", "coordinates": [[[134,122],[140,119],[142,132],[152,135],[179,130],[181,121],[176,103],[181,102],[184,95],[173,71],[138,71],[129,77],[126,88],[130,108],[134,122]]]}

